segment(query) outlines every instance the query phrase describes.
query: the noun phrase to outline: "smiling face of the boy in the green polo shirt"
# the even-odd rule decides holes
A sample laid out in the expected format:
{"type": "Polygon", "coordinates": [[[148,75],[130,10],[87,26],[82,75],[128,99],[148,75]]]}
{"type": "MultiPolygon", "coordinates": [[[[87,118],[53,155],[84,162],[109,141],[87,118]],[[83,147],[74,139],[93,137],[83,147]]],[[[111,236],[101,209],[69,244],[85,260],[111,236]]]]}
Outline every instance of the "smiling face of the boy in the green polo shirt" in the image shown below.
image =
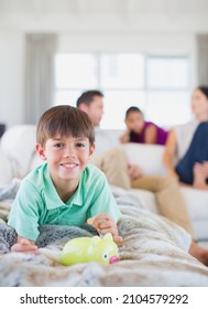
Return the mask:
{"type": "Polygon", "coordinates": [[[55,136],[46,140],[45,146],[36,145],[36,151],[47,161],[48,171],[54,184],[79,182],[79,178],[95,146],[89,145],[88,138],[55,136]]]}

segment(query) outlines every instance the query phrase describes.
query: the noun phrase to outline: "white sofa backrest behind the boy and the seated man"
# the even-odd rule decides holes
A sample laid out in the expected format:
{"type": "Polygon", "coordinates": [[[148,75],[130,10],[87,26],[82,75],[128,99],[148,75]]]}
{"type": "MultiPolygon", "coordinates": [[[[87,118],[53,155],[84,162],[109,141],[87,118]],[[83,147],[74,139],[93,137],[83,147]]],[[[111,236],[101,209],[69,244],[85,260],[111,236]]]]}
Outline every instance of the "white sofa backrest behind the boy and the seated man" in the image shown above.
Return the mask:
{"type": "MultiPolygon", "coordinates": [[[[98,152],[121,147],[128,160],[142,167],[145,174],[165,174],[162,162],[163,146],[125,143],[119,141],[121,130],[101,130],[96,136],[98,152]]],[[[34,125],[20,125],[9,128],[1,138],[0,184],[12,178],[23,178],[33,168],[43,163],[35,152],[36,127],[34,125]]]]}

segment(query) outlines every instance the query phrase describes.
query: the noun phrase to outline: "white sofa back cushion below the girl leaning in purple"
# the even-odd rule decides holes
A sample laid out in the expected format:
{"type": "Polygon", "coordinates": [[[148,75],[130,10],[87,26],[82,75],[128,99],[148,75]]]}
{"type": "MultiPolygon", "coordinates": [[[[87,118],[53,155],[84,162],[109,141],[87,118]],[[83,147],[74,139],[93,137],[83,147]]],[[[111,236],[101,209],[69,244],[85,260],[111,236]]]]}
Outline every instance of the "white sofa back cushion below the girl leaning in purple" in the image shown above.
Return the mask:
{"type": "Polygon", "coordinates": [[[121,146],[128,161],[140,166],[145,175],[166,175],[163,164],[164,146],[129,142],[121,146]]]}

